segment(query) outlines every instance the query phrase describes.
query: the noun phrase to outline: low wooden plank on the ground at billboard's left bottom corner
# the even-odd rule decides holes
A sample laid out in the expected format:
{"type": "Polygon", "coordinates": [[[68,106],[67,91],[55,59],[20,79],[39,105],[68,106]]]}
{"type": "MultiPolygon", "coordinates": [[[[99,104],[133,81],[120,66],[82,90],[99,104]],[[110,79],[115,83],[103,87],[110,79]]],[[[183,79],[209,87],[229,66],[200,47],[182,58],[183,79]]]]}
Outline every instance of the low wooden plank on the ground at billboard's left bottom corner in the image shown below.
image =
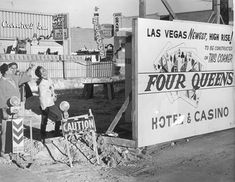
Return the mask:
{"type": "Polygon", "coordinates": [[[136,148],[136,142],[134,140],[128,140],[124,138],[116,138],[109,136],[102,136],[105,144],[112,144],[122,147],[136,148]]]}

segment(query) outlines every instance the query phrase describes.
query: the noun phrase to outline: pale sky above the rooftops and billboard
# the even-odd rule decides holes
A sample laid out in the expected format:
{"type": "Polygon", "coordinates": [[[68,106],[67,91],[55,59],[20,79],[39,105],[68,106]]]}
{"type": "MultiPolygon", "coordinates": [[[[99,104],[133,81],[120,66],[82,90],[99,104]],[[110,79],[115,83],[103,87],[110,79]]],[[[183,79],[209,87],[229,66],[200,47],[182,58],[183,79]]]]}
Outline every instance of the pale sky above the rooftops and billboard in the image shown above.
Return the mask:
{"type": "MultiPolygon", "coordinates": [[[[174,12],[211,9],[211,0],[167,0],[174,12]]],[[[232,6],[232,0],[229,0],[232,6]]],[[[113,13],[139,14],[139,0],[0,0],[0,8],[45,14],[69,13],[70,27],[92,28],[94,8],[99,8],[100,23],[113,23],[113,13]]],[[[146,13],[167,14],[161,0],[146,0],[146,13]]]]}

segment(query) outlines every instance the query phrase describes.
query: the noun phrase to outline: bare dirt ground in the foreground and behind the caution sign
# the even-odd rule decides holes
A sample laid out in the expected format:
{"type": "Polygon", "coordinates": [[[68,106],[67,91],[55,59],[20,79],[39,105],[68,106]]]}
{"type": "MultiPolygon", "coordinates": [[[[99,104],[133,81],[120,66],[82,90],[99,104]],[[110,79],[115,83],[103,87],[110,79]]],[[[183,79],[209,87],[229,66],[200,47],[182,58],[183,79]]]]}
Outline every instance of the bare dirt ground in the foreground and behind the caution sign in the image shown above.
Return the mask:
{"type": "MultiPolygon", "coordinates": [[[[70,103],[70,116],[86,114],[88,109],[92,109],[97,133],[101,134],[106,131],[124,102],[124,90],[120,85],[115,87],[115,98],[111,101],[104,99],[99,88],[93,99],[83,99],[81,91],[77,91],[61,92],[58,103],[62,100],[70,103]]],[[[115,149],[113,153],[122,154],[116,165],[105,162],[98,165],[92,157],[88,157],[91,152],[89,147],[79,141],[71,146],[74,162],[70,168],[63,137],[41,143],[38,104],[37,96],[26,102],[25,150],[26,154],[31,152],[33,157],[26,154],[23,157],[0,157],[0,182],[235,181],[235,129],[141,149],[112,146],[115,149]],[[30,120],[33,125],[33,146],[29,140],[30,120]]],[[[49,123],[48,131],[53,130],[53,126],[53,123],[49,123]]],[[[115,131],[119,131],[118,128],[115,131]]],[[[130,133],[126,133],[126,137],[130,136],[130,133]]]]}

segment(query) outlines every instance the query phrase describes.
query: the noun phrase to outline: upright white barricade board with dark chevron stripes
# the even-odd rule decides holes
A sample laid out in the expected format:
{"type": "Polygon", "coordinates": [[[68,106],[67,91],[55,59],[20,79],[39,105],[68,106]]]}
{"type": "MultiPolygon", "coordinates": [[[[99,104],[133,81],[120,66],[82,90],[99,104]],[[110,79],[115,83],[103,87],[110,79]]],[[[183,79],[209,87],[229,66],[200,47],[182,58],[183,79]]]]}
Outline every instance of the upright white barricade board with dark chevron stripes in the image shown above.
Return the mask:
{"type": "Polygon", "coordinates": [[[24,152],[24,125],[23,118],[12,119],[13,153],[24,152]]]}

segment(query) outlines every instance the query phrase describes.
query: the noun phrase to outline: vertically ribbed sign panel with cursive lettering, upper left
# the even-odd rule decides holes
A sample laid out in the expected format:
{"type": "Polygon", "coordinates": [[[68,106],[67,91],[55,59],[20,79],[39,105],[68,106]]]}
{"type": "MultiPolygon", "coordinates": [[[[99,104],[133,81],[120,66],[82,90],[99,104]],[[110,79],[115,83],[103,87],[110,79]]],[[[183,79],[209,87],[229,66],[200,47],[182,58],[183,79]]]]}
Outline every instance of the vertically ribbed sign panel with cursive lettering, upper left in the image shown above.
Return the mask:
{"type": "Polygon", "coordinates": [[[3,39],[32,39],[50,36],[52,15],[0,10],[0,36],[3,39]]]}

